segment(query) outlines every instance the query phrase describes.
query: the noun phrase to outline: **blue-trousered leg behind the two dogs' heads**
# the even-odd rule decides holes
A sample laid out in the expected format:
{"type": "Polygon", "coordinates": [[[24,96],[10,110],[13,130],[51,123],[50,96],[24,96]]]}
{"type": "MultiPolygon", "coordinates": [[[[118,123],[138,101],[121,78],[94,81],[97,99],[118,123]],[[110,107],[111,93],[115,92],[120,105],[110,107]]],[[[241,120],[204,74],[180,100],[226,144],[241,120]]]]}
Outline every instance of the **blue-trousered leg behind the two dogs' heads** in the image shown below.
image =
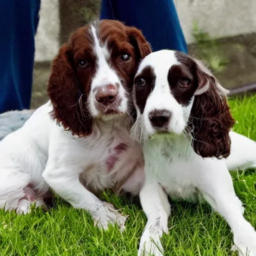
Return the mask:
{"type": "Polygon", "coordinates": [[[172,0],[102,0],[101,19],[117,19],[139,28],[154,51],[187,45],[172,0]]]}

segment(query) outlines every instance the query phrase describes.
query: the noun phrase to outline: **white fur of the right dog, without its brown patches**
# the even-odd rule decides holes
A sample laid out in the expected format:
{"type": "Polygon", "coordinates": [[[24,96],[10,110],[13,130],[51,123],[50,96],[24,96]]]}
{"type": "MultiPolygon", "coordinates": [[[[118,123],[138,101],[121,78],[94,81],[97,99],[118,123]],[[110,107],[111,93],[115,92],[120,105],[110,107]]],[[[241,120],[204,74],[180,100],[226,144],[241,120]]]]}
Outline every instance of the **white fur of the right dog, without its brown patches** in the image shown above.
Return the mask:
{"type": "MultiPolygon", "coordinates": [[[[238,250],[239,255],[256,255],[256,232],[243,217],[244,209],[235,195],[228,172],[228,169],[237,167],[256,166],[256,143],[230,131],[231,153],[227,159],[202,158],[196,154],[191,146],[190,136],[183,132],[193,98],[184,107],[171,94],[167,74],[173,64],[179,64],[174,51],[161,50],[147,55],[137,71],[139,74],[149,65],[156,76],[144,112],[140,114],[135,106],[137,120],[132,127],[132,135],[137,140],[141,141],[142,138],[144,141],[145,160],[145,184],[139,197],[147,223],[140,239],[138,255],[162,255],[163,247],[159,238],[163,232],[168,232],[167,219],[170,215],[167,195],[208,202],[231,227],[233,248],[238,250]],[[150,111],[162,108],[172,113],[168,135],[155,134],[155,128],[148,117],[150,111]]],[[[219,84],[216,86],[220,88],[219,84]]],[[[199,93],[206,90],[207,88],[199,93]]],[[[219,91],[225,93],[224,89],[219,91]]]]}

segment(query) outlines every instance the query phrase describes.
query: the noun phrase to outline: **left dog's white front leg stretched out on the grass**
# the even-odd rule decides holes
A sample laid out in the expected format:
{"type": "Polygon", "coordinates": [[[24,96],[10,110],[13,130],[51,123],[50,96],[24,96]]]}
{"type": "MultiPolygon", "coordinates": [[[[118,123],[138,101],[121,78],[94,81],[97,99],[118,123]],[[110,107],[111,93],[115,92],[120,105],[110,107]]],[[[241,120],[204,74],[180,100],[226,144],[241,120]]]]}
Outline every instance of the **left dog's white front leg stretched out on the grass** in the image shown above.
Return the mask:
{"type": "Polygon", "coordinates": [[[88,191],[80,183],[79,173],[72,169],[72,165],[54,168],[54,165],[48,162],[42,176],[51,188],[73,207],[87,210],[98,227],[107,229],[108,224],[117,223],[123,230],[127,216],[120,214],[112,204],[99,200],[88,191]]]}

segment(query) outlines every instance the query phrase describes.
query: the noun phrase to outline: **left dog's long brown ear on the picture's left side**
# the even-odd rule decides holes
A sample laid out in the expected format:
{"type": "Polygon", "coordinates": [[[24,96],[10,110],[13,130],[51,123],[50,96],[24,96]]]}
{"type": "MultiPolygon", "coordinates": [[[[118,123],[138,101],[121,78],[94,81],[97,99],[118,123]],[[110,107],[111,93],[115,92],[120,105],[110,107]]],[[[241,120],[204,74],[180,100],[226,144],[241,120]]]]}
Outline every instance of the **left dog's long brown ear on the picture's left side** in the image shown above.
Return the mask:
{"type": "Polygon", "coordinates": [[[85,136],[91,132],[92,118],[85,113],[82,103],[84,95],[80,91],[72,61],[72,48],[65,43],[52,61],[47,92],[53,106],[52,117],[57,123],[73,135],[85,136]]]}

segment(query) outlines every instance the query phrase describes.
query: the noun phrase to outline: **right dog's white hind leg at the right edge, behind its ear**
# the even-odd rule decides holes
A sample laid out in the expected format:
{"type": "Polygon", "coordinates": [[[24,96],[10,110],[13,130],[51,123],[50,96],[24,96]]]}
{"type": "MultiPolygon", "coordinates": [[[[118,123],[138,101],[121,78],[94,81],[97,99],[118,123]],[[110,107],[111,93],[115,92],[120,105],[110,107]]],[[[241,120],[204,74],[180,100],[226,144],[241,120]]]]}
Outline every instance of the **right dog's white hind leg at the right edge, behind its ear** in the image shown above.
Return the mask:
{"type": "Polygon", "coordinates": [[[229,132],[230,155],[226,158],[228,170],[256,167],[256,142],[236,132],[229,132]]]}

